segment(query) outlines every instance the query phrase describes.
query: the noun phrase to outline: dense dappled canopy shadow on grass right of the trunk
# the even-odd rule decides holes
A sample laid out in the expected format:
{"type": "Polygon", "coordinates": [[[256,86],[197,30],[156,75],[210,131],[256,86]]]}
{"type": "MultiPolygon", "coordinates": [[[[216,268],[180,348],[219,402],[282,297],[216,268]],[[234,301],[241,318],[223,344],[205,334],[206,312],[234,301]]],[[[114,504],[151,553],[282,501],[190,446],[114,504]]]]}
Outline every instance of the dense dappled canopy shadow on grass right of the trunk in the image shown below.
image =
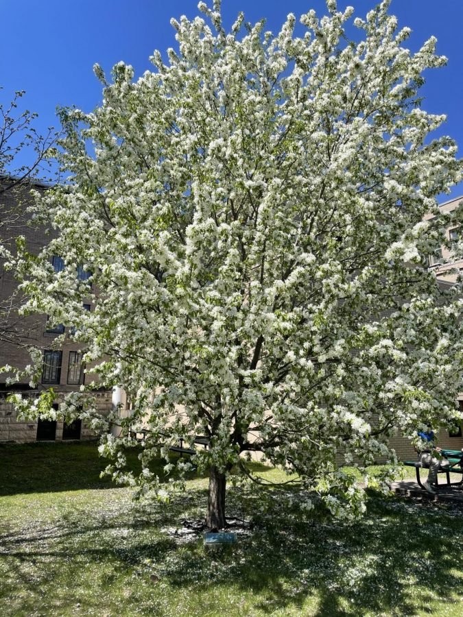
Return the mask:
{"type": "MultiPolygon", "coordinates": [[[[318,616],[414,615],[430,612],[436,597],[451,603],[451,590],[463,591],[457,574],[461,519],[434,505],[376,497],[355,524],[301,524],[285,514],[275,511],[274,520],[237,550],[215,555],[214,584],[232,580],[239,590],[252,591],[265,614],[289,607],[302,614],[307,598],[316,596],[318,616]]],[[[211,572],[203,563],[198,552],[184,552],[165,574],[178,588],[189,584],[193,572],[205,583],[211,572]]]]}

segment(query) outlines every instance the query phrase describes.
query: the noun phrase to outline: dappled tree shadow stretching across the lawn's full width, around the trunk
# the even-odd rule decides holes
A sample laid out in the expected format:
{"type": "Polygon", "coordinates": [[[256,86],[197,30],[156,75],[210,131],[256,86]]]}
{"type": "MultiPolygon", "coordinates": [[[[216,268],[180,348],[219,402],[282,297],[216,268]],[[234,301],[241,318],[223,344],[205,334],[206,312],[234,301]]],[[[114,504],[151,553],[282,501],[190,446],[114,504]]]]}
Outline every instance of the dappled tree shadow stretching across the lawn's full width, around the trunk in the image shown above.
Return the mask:
{"type": "MultiPolygon", "coordinates": [[[[246,511],[246,499],[232,490],[229,511],[246,511]]],[[[205,504],[206,492],[191,489],[167,506],[132,504],[85,520],[71,514],[56,529],[3,536],[1,551],[16,572],[8,594],[29,585],[31,597],[40,597],[50,577],[54,589],[65,575],[82,575],[82,564],[102,572],[110,564],[98,584],[121,577],[136,587],[137,611],[146,615],[157,610],[152,576],[174,594],[187,597],[195,590],[204,604],[211,590],[224,590],[226,597],[245,594],[254,612],[269,615],[431,614],[436,598],[451,603],[452,593],[461,594],[461,519],[442,507],[373,496],[365,518],[343,524],[327,518],[301,522],[276,506],[265,518],[257,516],[252,536],[213,552],[201,539],[177,544],[167,535],[166,527],[204,511],[205,504]],[[32,579],[30,568],[21,574],[21,566],[31,563],[32,579]],[[310,602],[313,610],[307,613],[310,602]]],[[[118,601],[120,614],[130,614],[130,604],[118,601]]],[[[239,614],[234,607],[227,610],[239,614]]]]}

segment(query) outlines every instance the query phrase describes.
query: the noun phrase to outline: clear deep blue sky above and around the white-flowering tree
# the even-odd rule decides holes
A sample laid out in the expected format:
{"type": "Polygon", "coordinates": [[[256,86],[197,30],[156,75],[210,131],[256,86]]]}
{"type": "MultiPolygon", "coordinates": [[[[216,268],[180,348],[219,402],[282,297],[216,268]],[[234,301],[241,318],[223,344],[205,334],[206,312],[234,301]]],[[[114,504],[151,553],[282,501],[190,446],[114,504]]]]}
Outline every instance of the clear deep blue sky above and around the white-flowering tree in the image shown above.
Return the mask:
{"type": "MultiPolygon", "coordinates": [[[[340,9],[355,7],[360,16],[374,0],[338,0],[340,9]]],[[[248,21],[265,17],[277,32],[285,16],[315,8],[326,12],[324,0],[222,0],[226,23],[244,10],[248,21]]],[[[432,34],[438,53],[449,58],[444,69],[429,71],[423,107],[448,116],[444,133],[460,145],[463,156],[463,29],[462,0],[392,0],[400,26],[412,28],[407,43],[416,49],[432,34]]],[[[198,14],[197,0],[0,0],[0,93],[27,90],[23,101],[39,114],[38,128],[57,125],[56,106],[75,105],[91,111],[101,101],[101,86],[92,66],[108,73],[119,60],[134,66],[136,75],[151,68],[154,49],[175,47],[169,19],[198,14]]],[[[456,187],[453,196],[463,194],[456,187]]]]}

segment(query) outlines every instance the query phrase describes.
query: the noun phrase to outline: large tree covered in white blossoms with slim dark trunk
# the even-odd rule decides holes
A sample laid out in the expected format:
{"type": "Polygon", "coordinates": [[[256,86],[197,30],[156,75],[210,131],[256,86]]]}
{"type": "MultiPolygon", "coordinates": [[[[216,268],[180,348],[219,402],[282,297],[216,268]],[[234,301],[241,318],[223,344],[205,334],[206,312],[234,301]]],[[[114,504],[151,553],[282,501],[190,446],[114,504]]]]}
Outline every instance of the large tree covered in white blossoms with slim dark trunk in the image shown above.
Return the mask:
{"type": "Polygon", "coordinates": [[[423,217],[462,165],[451,139],[427,139],[444,117],[418,97],[445,58],[434,38],[405,49],[388,4],[355,19],[353,43],[353,9],[334,0],[300,18],[301,36],[292,14],[277,36],[242,14],[226,32],[219,1],[200,3],[206,19],[172,20],[167,63],[154,53],[136,81],[119,63],[111,84],[95,66],[102,106],[60,112],[71,176],[37,201],[59,236],[21,262],[26,308],[74,326],[86,359],[105,359],[102,384],[126,390],[123,437],[102,439],[115,475],[158,490],[150,458],[209,439],[176,466],[209,468],[211,527],[225,524],[230,470],[252,476],[247,454],[296,472],[334,513],[358,511],[340,463],[393,459],[392,431],[412,438],[458,413],[459,286],[440,289],[424,256],[443,217],[462,215],[423,217]],[[119,450],[141,426],[133,478],[119,450]]]}

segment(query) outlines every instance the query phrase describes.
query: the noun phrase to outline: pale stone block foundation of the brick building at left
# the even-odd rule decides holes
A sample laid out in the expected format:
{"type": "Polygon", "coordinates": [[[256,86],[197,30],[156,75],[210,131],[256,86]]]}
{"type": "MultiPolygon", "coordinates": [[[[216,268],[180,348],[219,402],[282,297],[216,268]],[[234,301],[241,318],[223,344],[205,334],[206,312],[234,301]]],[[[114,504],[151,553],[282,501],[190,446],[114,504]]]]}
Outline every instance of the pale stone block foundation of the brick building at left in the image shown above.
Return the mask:
{"type": "MultiPolygon", "coordinates": [[[[21,392],[23,396],[38,396],[38,391],[27,390],[21,392]]],[[[59,392],[58,394],[58,406],[60,404],[59,392]]],[[[19,444],[25,444],[28,441],[36,441],[37,437],[37,422],[19,422],[16,420],[16,411],[11,403],[6,402],[8,392],[0,393],[0,443],[6,441],[15,441],[19,444]]],[[[96,392],[94,396],[97,399],[97,410],[106,415],[111,409],[111,396],[109,391],[96,392]]],[[[59,408],[59,407],[58,407],[59,408]]],[[[56,439],[55,441],[62,441],[62,428],[64,422],[56,423],[56,439]]],[[[82,424],[82,430],[80,432],[80,441],[88,441],[95,439],[97,434],[91,428],[88,428],[85,424],[82,424]]]]}

